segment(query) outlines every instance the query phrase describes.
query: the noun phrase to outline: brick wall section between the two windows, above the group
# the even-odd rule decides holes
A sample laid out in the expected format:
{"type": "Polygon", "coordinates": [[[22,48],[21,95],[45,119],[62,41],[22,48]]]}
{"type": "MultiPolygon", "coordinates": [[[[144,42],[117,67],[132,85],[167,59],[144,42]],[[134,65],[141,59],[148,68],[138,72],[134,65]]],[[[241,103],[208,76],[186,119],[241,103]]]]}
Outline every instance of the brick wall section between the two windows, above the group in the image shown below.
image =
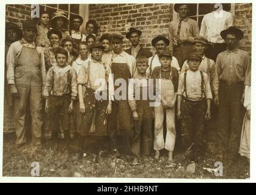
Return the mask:
{"type": "MultiPolygon", "coordinates": [[[[168,24],[172,20],[173,4],[90,4],[89,18],[95,19],[99,33],[119,33],[125,37],[131,26],[142,31],[141,44],[152,48],[151,40],[156,35],[168,34],[168,24]]],[[[125,48],[129,41],[125,38],[125,48]]]]}

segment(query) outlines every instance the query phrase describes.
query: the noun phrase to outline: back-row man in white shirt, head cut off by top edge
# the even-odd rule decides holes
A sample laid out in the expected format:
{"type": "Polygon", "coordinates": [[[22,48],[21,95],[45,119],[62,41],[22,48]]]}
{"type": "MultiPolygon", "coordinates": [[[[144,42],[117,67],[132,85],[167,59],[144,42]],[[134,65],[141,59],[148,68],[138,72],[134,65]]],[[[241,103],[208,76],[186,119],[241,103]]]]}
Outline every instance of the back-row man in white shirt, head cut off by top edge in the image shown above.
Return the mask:
{"type": "Polygon", "coordinates": [[[206,51],[207,57],[216,61],[218,54],[226,49],[225,42],[221,38],[221,31],[234,26],[234,17],[232,13],[223,10],[221,4],[212,4],[211,6],[213,12],[203,16],[200,35],[206,37],[210,42],[206,51]]]}

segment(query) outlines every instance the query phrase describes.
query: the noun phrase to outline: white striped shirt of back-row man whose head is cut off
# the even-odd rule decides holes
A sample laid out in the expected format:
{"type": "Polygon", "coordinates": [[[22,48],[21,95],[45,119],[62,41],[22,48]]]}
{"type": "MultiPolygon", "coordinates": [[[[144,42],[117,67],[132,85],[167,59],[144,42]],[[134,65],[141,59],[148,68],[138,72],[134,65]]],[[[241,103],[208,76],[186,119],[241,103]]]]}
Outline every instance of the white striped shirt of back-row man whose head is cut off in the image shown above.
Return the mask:
{"type": "Polygon", "coordinates": [[[234,26],[232,13],[221,10],[218,12],[207,13],[203,16],[200,35],[206,37],[211,43],[224,43],[221,31],[234,26]]]}

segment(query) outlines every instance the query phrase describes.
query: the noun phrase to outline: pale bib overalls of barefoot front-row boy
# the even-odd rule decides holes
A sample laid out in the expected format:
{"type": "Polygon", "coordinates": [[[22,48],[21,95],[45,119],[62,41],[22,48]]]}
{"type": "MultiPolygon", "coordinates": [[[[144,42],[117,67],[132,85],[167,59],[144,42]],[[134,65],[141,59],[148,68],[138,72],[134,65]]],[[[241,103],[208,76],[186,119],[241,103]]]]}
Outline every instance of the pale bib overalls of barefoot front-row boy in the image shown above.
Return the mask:
{"type": "MultiPolygon", "coordinates": [[[[161,73],[160,73],[161,74],[161,73]]],[[[170,79],[160,80],[161,98],[169,104],[175,96],[174,85],[170,79]]],[[[165,148],[174,151],[176,138],[175,108],[163,108],[162,104],[155,107],[155,140],[154,149],[159,151],[165,148]],[[164,112],[166,112],[166,141],[164,141],[164,112]]]]}

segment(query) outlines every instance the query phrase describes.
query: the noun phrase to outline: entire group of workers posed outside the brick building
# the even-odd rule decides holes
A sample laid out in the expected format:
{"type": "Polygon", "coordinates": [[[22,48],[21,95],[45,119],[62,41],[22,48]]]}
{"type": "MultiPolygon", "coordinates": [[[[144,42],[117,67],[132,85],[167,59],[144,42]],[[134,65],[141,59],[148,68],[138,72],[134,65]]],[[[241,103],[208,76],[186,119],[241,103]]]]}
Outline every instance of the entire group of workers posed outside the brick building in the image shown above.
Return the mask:
{"type": "Polygon", "coordinates": [[[120,34],[98,37],[95,20],[87,21],[87,34],[82,34],[79,15],[68,19],[65,12],[41,12],[40,23],[23,21],[23,32],[7,23],[4,96],[9,108],[4,112],[14,127],[5,132],[15,129],[16,146],[27,142],[29,121],[35,147],[42,147],[43,137],[54,143],[64,138],[68,151],[71,138],[78,137],[82,159],[89,135],[95,135],[108,138],[109,155],[132,155],[136,164],[153,147],[156,160],[166,149],[173,162],[180,134],[192,162],[199,161],[214,118],[224,166],[233,165],[238,153],[249,158],[251,60],[238,49],[243,31],[225,10],[213,8],[203,16],[200,30],[188,17],[189,4],[175,4],[174,10],[179,18],[170,21],[169,38],[152,40],[155,55],[142,47],[142,32],[135,27],[126,33],[131,47],[123,50],[120,34]],[[139,82],[128,85],[132,78],[139,82]],[[126,81],[121,99],[115,96],[121,86],[114,85],[117,79],[126,81]],[[151,99],[142,98],[144,90],[150,91],[148,79],[161,94],[153,107],[151,99]],[[104,90],[108,98],[98,99],[104,90]],[[136,90],[141,97],[135,98],[136,90]],[[214,105],[218,112],[212,112],[214,105]],[[119,147],[117,132],[122,135],[119,147]]]}

